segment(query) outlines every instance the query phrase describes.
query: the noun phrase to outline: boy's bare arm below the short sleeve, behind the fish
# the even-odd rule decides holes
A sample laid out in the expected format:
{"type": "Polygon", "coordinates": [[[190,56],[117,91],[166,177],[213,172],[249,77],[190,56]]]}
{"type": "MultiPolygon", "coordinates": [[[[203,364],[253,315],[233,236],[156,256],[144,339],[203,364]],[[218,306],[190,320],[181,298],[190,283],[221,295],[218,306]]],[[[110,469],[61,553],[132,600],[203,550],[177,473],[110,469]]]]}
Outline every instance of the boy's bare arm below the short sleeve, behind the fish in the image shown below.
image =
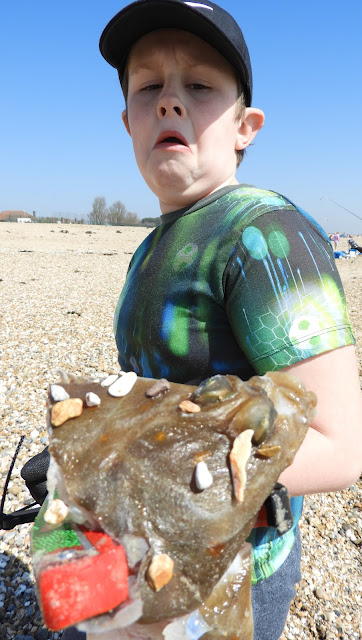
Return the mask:
{"type": "Polygon", "coordinates": [[[328,351],[283,371],[300,378],[318,403],[313,424],[280,482],[291,496],[350,486],[362,466],[362,392],[354,347],[328,351]]]}

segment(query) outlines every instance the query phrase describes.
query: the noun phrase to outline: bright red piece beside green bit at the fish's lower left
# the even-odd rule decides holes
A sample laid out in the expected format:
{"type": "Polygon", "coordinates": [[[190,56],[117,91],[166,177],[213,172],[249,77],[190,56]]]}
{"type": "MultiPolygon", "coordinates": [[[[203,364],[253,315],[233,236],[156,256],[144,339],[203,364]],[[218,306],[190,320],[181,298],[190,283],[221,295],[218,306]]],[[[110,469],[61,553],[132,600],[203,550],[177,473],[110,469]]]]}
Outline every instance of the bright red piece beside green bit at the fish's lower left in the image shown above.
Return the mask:
{"type": "Polygon", "coordinates": [[[49,565],[38,576],[44,623],[52,631],[106,613],[128,598],[123,547],[102,533],[87,531],[86,535],[97,555],[49,565]]]}

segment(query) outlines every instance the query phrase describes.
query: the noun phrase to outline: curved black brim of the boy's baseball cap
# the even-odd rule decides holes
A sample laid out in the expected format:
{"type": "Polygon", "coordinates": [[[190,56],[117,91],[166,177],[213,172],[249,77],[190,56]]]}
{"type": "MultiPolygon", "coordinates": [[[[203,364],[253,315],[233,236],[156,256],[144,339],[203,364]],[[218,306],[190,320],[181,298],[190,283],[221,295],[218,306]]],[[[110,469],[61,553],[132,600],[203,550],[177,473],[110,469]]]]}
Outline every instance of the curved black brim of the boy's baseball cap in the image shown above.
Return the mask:
{"type": "MultiPolygon", "coordinates": [[[[105,60],[123,77],[132,46],[142,36],[156,29],[184,29],[194,33],[217,49],[236,69],[243,84],[247,106],[251,103],[249,70],[236,47],[195,7],[174,0],[144,0],[122,9],[104,29],[99,48],[105,60]]],[[[249,56],[245,45],[246,55],[249,56]]]]}

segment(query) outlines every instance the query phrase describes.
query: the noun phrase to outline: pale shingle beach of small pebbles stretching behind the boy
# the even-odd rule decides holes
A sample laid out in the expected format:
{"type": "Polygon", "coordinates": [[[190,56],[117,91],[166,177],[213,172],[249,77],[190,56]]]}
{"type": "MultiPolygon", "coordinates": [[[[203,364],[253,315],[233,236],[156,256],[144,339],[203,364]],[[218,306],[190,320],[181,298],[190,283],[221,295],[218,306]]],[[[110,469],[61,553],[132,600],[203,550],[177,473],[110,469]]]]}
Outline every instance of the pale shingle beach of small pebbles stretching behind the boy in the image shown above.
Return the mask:
{"type": "MultiPolygon", "coordinates": [[[[92,378],[118,371],[113,312],[131,256],[149,231],[0,223],[0,493],[25,436],[6,513],[32,502],[20,469],[47,444],[45,402],[58,371],[92,378]]],[[[356,240],[361,244],[361,237],[356,240]]],[[[347,241],[340,245],[346,249],[347,241]]],[[[362,256],[336,265],[362,382],[362,256]]],[[[362,638],[361,487],[358,482],[339,493],[306,498],[303,579],[283,640],[362,638]]],[[[0,531],[0,640],[61,638],[61,632],[44,628],[36,602],[31,526],[0,531]]]]}

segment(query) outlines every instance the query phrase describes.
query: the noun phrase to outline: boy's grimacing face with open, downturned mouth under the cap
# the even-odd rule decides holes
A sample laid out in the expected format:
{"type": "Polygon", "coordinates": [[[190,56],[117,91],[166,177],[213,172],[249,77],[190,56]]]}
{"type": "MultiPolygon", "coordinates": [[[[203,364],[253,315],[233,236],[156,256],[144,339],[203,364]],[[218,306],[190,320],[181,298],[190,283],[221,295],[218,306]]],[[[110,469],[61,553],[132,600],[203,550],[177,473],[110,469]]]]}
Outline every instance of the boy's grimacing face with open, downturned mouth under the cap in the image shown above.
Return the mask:
{"type": "Polygon", "coordinates": [[[123,120],[162,213],[236,183],[235,150],[249,144],[237,97],[231,65],[191,33],[160,29],[133,47],[123,120]]]}

